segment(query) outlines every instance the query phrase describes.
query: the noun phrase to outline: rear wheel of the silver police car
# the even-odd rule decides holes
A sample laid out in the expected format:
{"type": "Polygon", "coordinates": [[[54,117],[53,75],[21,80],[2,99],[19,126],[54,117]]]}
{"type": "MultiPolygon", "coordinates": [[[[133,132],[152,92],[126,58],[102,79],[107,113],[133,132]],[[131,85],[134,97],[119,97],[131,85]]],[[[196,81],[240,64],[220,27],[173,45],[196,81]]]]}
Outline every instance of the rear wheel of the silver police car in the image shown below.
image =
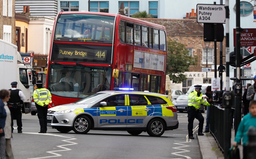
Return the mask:
{"type": "Polygon", "coordinates": [[[147,125],[147,133],[149,136],[161,136],[165,131],[165,124],[161,119],[153,119],[147,125]]]}

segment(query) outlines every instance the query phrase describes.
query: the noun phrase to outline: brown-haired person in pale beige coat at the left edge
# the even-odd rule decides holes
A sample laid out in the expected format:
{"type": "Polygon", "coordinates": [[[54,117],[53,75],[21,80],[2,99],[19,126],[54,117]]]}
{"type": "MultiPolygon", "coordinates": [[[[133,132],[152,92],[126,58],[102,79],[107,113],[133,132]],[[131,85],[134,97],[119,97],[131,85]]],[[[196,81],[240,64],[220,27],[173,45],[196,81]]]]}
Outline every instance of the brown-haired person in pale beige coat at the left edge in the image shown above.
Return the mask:
{"type": "MultiPolygon", "coordinates": [[[[10,90],[2,89],[1,90],[4,94],[8,94],[6,97],[6,100],[8,101],[10,98],[10,90]]],[[[1,93],[0,93],[1,94],[1,93]]],[[[6,111],[6,121],[5,121],[5,128],[3,129],[5,131],[5,141],[6,141],[6,158],[7,159],[14,159],[13,156],[13,150],[11,149],[11,138],[13,138],[11,134],[11,112],[9,107],[7,106],[7,101],[5,101],[5,111],[6,111]]]]}

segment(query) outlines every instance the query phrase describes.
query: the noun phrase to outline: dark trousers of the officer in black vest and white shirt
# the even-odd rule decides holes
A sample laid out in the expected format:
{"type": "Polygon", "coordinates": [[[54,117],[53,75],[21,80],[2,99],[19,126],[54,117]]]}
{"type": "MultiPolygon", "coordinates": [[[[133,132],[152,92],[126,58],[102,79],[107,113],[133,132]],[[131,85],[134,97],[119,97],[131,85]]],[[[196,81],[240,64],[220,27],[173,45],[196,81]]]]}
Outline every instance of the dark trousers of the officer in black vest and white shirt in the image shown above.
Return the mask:
{"type": "Polygon", "coordinates": [[[22,130],[22,121],[21,121],[21,117],[22,117],[22,112],[21,112],[21,107],[18,108],[13,108],[13,107],[9,107],[10,112],[11,112],[11,130],[13,131],[13,119],[16,118],[17,121],[17,130],[21,131],[22,130]]]}

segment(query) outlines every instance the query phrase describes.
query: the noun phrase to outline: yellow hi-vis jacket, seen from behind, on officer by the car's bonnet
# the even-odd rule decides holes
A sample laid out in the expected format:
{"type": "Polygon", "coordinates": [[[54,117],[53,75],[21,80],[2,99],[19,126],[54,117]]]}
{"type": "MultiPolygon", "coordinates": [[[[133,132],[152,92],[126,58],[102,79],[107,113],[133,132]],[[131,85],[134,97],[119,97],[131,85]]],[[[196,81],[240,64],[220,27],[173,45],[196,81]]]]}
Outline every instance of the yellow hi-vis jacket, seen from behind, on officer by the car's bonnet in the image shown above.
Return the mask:
{"type": "Polygon", "coordinates": [[[37,88],[33,92],[34,102],[40,106],[48,105],[52,100],[50,91],[46,88],[37,88]]]}

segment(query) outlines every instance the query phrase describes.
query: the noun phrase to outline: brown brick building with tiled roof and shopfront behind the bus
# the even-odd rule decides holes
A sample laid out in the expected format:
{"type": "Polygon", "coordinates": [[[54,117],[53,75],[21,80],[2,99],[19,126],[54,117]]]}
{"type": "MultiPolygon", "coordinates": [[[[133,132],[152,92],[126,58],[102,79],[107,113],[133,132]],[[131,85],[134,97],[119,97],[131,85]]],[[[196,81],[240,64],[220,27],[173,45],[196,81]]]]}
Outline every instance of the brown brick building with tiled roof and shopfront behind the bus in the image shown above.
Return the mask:
{"type": "MultiPolygon", "coordinates": [[[[211,78],[214,77],[214,42],[211,42],[208,47],[208,68],[211,72],[202,72],[202,68],[206,68],[206,47],[203,41],[203,25],[197,23],[196,19],[149,19],[140,18],[141,20],[165,26],[167,32],[167,40],[176,40],[179,43],[185,44],[186,48],[192,56],[198,56],[198,63],[189,67],[189,72],[185,72],[187,80],[183,83],[172,83],[172,89],[183,90],[185,93],[193,84],[211,83],[211,78]],[[206,78],[207,77],[207,78],[206,78]],[[208,81],[206,80],[208,79],[208,81]]],[[[223,56],[225,56],[226,40],[223,40],[223,56]]],[[[219,65],[220,43],[217,42],[217,69],[219,65]]],[[[223,64],[225,58],[223,57],[223,64]]],[[[218,70],[217,70],[217,77],[218,70]]],[[[225,72],[223,73],[223,81],[225,81],[225,72]]]]}

